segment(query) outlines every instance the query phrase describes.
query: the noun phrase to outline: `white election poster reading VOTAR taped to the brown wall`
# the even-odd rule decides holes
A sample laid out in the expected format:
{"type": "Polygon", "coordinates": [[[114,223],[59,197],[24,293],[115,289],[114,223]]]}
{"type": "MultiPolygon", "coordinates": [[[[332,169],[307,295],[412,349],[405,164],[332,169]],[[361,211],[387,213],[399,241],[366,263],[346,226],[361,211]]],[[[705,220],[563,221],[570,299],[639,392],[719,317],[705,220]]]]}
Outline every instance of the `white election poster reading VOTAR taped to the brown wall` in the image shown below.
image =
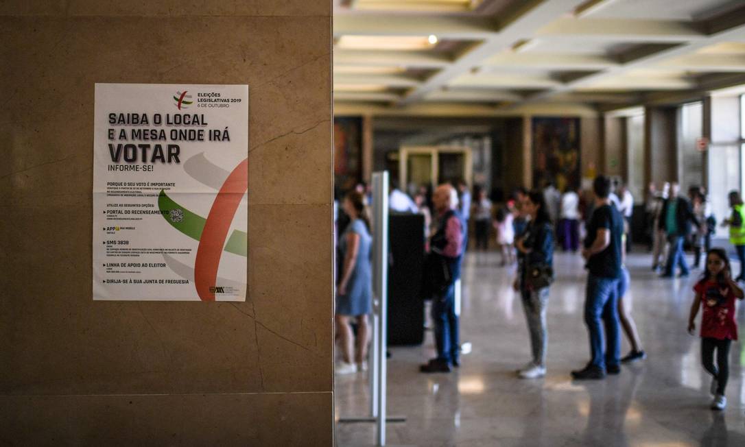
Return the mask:
{"type": "Polygon", "coordinates": [[[95,85],[93,299],[245,301],[248,86],[95,85]]]}

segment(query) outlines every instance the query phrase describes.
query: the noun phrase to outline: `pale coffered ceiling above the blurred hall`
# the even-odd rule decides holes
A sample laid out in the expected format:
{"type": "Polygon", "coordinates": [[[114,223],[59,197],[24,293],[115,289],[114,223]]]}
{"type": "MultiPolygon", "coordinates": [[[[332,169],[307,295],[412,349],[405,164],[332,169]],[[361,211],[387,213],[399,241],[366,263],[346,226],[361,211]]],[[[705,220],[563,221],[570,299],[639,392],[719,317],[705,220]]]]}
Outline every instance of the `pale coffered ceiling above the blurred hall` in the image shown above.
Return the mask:
{"type": "Polygon", "coordinates": [[[745,0],[335,0],[335,110],[605,111],[745,83],[745,0]]]}

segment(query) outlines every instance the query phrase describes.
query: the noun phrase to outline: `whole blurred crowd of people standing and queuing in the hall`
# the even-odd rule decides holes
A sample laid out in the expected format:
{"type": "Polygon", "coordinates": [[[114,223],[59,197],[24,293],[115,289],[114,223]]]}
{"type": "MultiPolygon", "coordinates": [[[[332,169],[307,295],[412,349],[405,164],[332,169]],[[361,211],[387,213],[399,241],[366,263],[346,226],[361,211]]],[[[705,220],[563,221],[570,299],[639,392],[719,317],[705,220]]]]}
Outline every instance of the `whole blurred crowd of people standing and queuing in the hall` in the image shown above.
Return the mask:
{"type": "MultiPolygon", "coordinates": [[[[659,270],[662,278],[671,278],[676,271],[680,277],[690,274],[685,250],[693,251],[694,268],[702,267],[702,254],[706,254],[701,279],[694,286],[688,330],[694,330],[695,317],[703,308],[702,361],[713,378],[711,408],[726,406],[726,355],[729,342],[737,339],[734,300],[743,298],[737,283],[745,281],[745,214],[738,191],[729,193],[732,211],[721,223],[729,226],[729,240],[741,261],[741,271],[733,278],[726,250],[711,247],[717,220],[700,186],[691,186],[683,196],[675,182],[660,188],[650,184],[643,206],[635,206],[624,183],[604,176],[596,177],[591,188],[559,191],[553,183],[546,183],[540,190],[516,188],[507,197],[500,191],[487,194],[481,186],[471,189],[463,180],[443,183],[434,190],[429,186],[412,189],[409,195],[392,181],[389,206],[393,212],[423,215],[427,254],[422,295],[431,299],[437,356],[422,364],[422,373],[449,373],[460,366],[455,288],[470,240],[471,250],[498,250],[500,267],[516,264],[513,288],[522,299],[530,336],[530,361],[517,371],[520,378],[540,378],[546,373],[546,308],[557,249],[581,253],[588,270],[584,320],[590,360],[572,371],[572,378],[602,379],[620,373],[621,364],[646,358],[626,297],[631,275],[625,259],[638,238],[637,250],[644,247],[646,239],[652,269],[659,270]],[[620,352],[622,331],[631,346],[624,357],[620,352]]],[[[372,301],[372,238],[367,216],[371,199],[369,186],[359,184],[344,196],[343,212],[337,218],[338,228],[343,229],[337,257],[337,336],[343,360],[337,373],[367,369],[367,314],[372,301]],[[352,323],[357,327],[356,340],[352,323]]]]}

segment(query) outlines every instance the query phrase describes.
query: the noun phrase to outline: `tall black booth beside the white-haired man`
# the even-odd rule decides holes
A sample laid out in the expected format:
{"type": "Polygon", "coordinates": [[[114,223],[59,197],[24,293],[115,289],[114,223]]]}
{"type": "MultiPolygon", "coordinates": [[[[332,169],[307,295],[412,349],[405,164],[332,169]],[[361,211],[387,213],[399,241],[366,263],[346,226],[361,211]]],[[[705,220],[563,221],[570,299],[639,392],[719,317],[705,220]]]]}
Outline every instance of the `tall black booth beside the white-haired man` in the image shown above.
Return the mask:
{"type": "Polygon", "coordinates": [[[388,344],[424,340],[424,216],[390,212],[388,220],[388,344]]]}

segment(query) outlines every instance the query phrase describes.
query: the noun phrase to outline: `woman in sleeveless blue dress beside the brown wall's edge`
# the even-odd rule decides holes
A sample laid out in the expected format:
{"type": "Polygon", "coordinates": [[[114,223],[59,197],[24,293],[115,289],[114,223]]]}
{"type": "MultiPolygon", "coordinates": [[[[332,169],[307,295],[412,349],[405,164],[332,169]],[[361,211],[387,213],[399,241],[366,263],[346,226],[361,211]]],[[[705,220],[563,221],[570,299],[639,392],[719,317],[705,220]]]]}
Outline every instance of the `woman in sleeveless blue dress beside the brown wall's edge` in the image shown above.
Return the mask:
{"type": "Polygon", "coordinates": [[[373,308],[373,268],[370,262],[373,237],[362,194],[349,192],[342,206],[350,221],[339,244],[343,264],[337,285],[336,323],[343,361],[335,370],[337,374],[349,374],[367,370],[367,314],[373,308]],[[352,318],[357,321],[356,343],[350,324],[352,318]]]}

